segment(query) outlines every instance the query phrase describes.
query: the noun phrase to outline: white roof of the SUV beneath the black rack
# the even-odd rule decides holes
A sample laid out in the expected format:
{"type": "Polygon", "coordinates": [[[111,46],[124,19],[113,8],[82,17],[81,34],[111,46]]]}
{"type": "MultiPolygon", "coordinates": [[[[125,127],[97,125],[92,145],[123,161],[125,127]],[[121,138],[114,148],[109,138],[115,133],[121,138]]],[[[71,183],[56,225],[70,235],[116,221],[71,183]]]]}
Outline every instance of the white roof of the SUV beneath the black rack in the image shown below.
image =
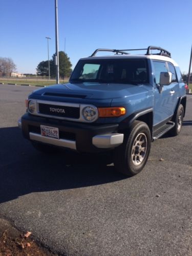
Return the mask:
{"type": "Polygon", "coordinates": [[[177,62],[175,60],[173,60],[172,58],[166,57],[166,56],[162,56],[162,55],[156,55],[156,54],[151,54],[151,55],[144,55],[144,54],[124,54],[124,55],[108,55],[108,56],[93,56],[93,57],[87,57],[87,58],[81,58],[81,59],[114,59],[114,58],[119,58],[119,59],[127,59],[127,58],[146,58],[146,59],[157,59],[157,60],[164,60],[164,61],[168,61],[171,62],[174,66],[178,67],[179,65],[177,64],[177,62]]]}

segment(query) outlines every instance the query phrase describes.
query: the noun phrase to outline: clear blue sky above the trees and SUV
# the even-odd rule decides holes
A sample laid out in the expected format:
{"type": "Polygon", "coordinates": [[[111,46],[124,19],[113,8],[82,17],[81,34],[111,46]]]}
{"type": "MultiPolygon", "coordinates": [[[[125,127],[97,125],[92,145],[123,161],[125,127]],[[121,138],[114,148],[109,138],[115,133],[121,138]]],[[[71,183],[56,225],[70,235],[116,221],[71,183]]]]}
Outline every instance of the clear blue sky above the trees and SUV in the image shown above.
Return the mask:
{"type": "MultiPolygon", "coordinates": [[[[0,57],[19,73],[34,73],[55,52],[54,0],[1,0],[0,57]]],[[[58,0],[59,50],[73,67],[97,48],[160,46],[188,72],[192,44],[191,0],[58,0]]]]}

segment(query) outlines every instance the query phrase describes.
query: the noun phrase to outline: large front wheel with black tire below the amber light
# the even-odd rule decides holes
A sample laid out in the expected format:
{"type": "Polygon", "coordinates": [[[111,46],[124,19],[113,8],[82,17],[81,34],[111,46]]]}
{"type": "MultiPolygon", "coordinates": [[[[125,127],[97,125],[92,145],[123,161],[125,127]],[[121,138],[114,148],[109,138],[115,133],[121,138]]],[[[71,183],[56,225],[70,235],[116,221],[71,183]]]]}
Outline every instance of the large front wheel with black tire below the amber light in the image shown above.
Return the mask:
{"type": "Polygon", "coordinates": [[[151,132],[148,125],[134,121],[124,134],[123,143],[114,150],[114,165],[118,172],[133,176],[141,172],[151,148],[151,132]]]}

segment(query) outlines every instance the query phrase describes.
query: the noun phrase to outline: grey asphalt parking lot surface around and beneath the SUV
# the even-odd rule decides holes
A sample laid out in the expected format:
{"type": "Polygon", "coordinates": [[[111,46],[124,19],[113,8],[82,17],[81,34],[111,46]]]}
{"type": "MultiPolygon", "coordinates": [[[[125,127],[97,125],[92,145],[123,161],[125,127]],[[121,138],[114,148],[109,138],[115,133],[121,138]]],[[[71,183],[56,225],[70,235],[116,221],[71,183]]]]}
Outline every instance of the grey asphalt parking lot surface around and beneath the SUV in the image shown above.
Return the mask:
{"type": "Polygon", "coordinates": [[[192,255],[192,95],[126,178],[105,155],[35,151],[17,127],[35,89],[0,84],[0,217],[62,255],[192,255]]]}

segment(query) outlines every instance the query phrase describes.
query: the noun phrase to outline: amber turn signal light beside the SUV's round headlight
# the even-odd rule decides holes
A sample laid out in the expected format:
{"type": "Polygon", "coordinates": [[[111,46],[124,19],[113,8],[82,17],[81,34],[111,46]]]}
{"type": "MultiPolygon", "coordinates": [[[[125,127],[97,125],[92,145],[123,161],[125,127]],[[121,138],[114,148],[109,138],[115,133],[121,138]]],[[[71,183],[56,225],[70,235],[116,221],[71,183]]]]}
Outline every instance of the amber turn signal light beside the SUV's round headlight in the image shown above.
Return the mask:
{"type": "Polygon", "coordinates": [[[118,117],[126,113],[122,106],[115,106],[114,108],[98,108],[99,117],[118,117]]]}

